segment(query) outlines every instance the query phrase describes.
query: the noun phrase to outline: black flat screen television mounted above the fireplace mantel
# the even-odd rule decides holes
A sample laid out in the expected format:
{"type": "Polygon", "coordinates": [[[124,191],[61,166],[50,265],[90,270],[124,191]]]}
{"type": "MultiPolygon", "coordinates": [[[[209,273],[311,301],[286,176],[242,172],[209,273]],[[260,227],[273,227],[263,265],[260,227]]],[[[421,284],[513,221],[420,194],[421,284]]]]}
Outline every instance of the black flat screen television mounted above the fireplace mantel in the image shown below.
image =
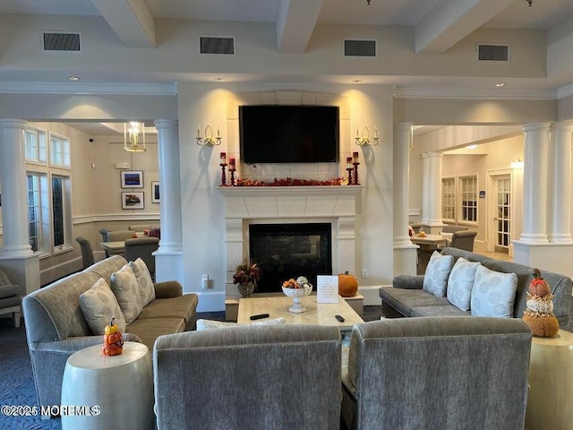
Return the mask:
{"type": "Polygon", "coordinates": [[[338,161],[338,107],[241,106],[244,163],[338,161]]]}

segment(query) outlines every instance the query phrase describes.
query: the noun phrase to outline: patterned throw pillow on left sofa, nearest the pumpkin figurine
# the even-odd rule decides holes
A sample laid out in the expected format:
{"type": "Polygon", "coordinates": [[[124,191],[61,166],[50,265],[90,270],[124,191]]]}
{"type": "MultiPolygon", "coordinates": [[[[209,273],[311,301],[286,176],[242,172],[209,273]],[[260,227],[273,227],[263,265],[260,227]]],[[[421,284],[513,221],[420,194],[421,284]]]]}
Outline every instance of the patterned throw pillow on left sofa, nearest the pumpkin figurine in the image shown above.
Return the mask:
{"type": "Polygon", "coordinates": [[[80,307],[93,334],[105,334],[107,324],[115,317],[119,331],[125,331],[124,313],[106,280],[99,279],[80,296],[80,307]]]}

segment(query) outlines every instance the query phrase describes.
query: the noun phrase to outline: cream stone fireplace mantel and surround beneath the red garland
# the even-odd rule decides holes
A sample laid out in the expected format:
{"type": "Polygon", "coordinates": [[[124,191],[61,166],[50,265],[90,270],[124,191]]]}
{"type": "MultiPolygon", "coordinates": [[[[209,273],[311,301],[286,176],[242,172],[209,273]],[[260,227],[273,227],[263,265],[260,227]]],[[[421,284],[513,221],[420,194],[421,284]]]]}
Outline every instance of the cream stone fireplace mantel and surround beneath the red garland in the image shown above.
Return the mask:
{"type": "Polygon", "coordinates": [[[237,297],[232,274],[248,257],[249,224],[329,222],[332,271],[355,271],[355,219],[362,185],[220,186],[225,198],[227,297],[237,297]]]}

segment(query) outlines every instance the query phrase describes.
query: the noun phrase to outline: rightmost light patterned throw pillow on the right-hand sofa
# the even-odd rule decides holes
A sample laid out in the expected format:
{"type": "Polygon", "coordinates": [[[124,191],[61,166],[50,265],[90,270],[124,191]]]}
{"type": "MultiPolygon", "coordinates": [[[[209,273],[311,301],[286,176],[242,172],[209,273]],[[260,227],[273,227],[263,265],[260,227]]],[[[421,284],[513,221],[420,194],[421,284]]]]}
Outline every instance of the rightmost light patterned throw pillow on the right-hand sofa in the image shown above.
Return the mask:
{"type": "Polygon", "coordinates": [[[478,266],[470,304],[472,315],[511,318],[516,291],[515,273],[501,273],[478,266]]]}

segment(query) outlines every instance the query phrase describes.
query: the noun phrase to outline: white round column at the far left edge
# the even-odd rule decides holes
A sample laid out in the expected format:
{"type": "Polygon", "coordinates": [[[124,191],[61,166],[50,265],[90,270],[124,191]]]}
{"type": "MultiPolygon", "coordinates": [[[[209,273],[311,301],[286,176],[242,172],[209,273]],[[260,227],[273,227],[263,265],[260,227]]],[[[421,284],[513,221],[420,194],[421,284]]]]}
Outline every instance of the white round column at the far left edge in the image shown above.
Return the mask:
{"type": "Polygon", "coordinates": [[[0,119],[0,183],[4,245],[2,256],[32,254],[28,237],[28,203],[24,128],[21,119],[0,119]]]}

